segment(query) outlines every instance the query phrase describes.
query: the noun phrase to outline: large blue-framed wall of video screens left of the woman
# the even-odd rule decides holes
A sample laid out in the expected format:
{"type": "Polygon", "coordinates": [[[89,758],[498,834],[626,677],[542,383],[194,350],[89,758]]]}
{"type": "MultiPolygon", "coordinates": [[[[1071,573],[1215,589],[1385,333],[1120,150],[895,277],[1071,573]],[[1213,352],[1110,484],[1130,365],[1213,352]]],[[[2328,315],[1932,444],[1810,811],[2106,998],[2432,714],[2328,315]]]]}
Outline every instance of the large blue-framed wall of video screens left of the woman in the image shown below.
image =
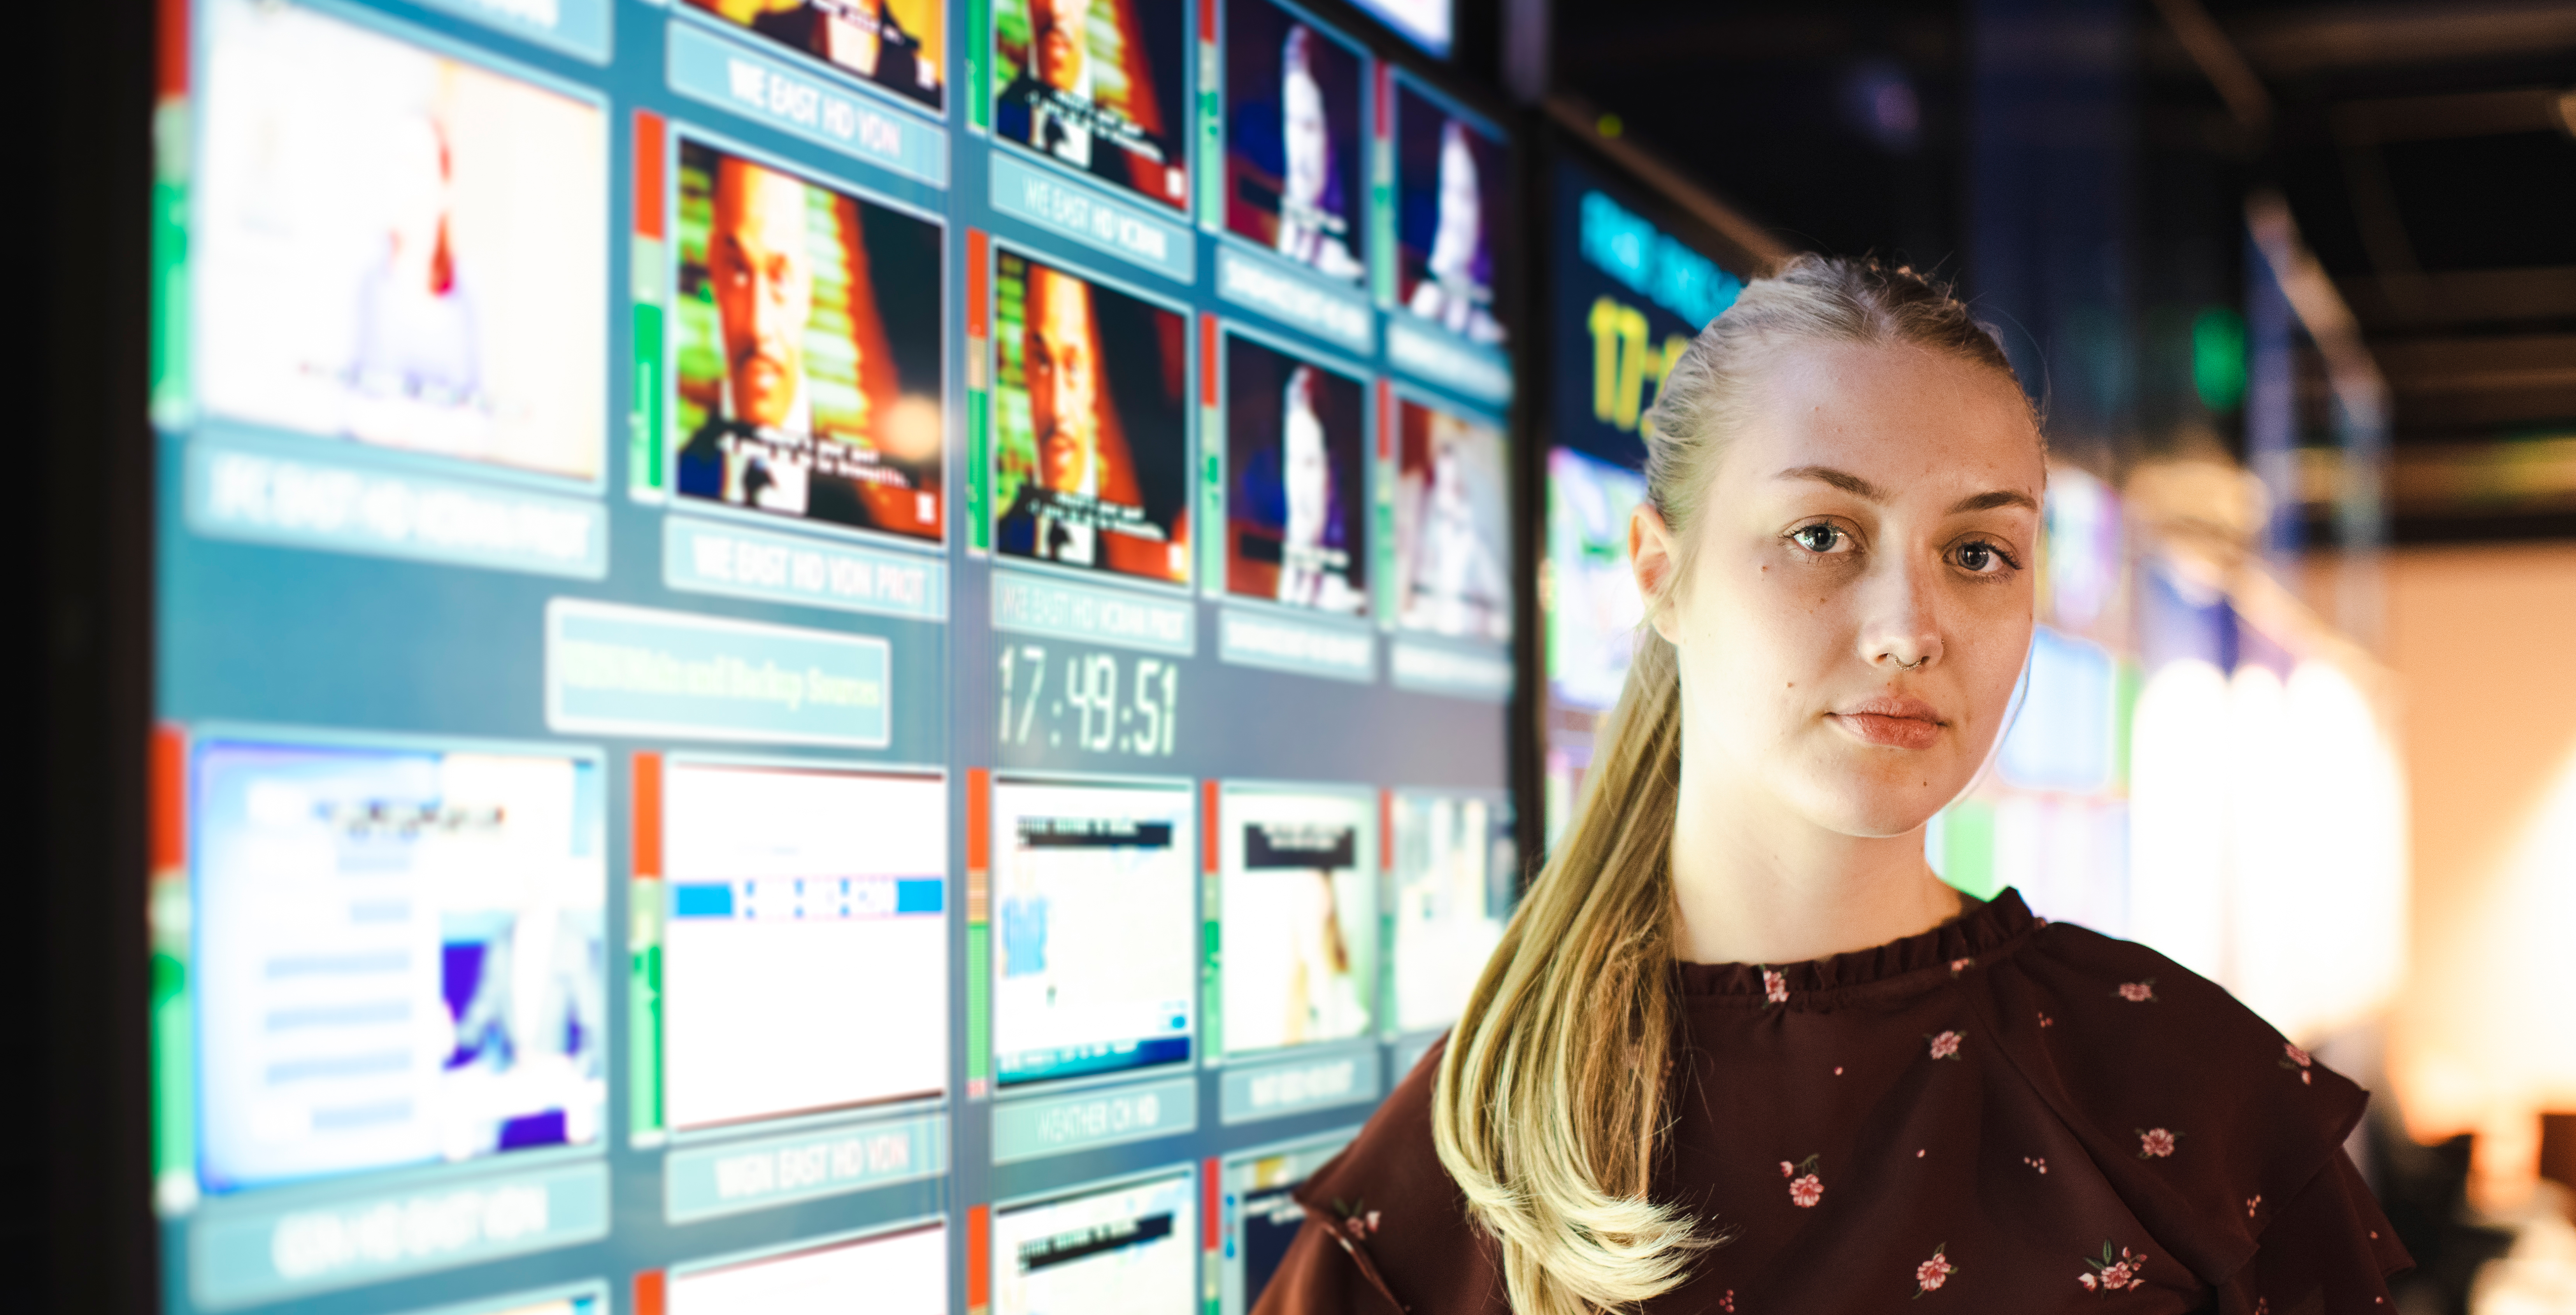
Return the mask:
{"type": "Polygon", "coordinates": [[[1520,888],[1492,103],[1291,0],[160,13],[162,1310],[1249,1310],[1520,888]]]}

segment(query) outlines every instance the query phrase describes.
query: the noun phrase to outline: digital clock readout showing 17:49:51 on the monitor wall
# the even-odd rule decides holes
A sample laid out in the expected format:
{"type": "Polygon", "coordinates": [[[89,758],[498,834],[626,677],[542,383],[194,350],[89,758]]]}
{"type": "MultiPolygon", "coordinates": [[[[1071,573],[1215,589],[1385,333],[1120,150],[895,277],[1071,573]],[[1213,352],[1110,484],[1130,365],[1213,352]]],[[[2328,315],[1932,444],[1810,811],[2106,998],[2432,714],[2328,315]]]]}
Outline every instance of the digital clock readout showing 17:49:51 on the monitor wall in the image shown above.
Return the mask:
{"type": "Polygon", "coordinates": [[[1090,754],[1172,757],[1180,739],[1180,664],[1002,648],[1002,744],[1090,754]],[[1133,672],[1133,674],[1131,674],[1133,672]]]}

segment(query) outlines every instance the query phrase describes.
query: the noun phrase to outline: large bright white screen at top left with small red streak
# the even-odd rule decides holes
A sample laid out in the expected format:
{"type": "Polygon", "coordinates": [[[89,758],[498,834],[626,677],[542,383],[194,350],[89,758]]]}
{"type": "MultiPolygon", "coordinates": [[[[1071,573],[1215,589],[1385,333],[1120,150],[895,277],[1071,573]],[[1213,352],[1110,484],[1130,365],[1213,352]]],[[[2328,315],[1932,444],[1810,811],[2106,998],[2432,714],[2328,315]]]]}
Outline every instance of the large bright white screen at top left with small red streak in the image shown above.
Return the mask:
{"type": "Polygon", "coordinates": [[[209,0],[193,368],[222,417],[598,479],[600,103],[299,5],[209,0]]]}

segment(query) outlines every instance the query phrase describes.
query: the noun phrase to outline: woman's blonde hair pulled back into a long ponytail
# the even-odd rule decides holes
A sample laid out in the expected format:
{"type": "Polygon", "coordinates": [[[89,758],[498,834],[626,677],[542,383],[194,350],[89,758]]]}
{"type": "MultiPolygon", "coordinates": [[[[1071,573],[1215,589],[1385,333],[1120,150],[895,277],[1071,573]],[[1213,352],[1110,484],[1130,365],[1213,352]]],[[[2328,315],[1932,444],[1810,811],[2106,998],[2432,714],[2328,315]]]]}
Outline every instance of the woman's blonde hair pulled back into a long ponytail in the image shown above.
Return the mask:
{"type": "MultiPolygon", "coordinates": [[[[2012,373],[1968,309],[1914,270],[1798,257],[1713,319],[1646,417],[1646,499],[1682,546],[1723,437],[1785,342],[1904,342],[2012,373]]],[[[1664,600],[1649,600],[1649,610],[1664,600]]],[[[1502,1248],[1520,1315],[1623,1310],[1723,1243],[1649,1197],[1672,1078],[1672,818],[1682,685],[1672,643],[1638,630],[1582,803],[1450,1032],[1432,1145],[1502,1248]]]]}

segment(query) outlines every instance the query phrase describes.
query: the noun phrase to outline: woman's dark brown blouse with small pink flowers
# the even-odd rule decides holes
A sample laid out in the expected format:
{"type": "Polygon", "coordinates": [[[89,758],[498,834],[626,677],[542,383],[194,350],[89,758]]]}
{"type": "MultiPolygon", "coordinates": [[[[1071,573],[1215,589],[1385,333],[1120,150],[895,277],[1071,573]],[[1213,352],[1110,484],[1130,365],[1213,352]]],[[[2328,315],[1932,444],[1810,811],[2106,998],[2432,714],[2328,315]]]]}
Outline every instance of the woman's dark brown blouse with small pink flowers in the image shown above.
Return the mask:
{"type": "MultiPolygon", "coordinates": [[[[1649,1315],[2391,1312],[2367,1094],[2141,944],[2012,890],[1829,960],[1677,973],[1656,1199],[1728,1240],[1649,1315]],[[1914,1305],[1922,1302],[1922,1305],[1914,1305]]],[[[1319,1168],[1257,1315],[1502,1315],[1432,1153],[1440,1047],[1319,1168]]]]}

